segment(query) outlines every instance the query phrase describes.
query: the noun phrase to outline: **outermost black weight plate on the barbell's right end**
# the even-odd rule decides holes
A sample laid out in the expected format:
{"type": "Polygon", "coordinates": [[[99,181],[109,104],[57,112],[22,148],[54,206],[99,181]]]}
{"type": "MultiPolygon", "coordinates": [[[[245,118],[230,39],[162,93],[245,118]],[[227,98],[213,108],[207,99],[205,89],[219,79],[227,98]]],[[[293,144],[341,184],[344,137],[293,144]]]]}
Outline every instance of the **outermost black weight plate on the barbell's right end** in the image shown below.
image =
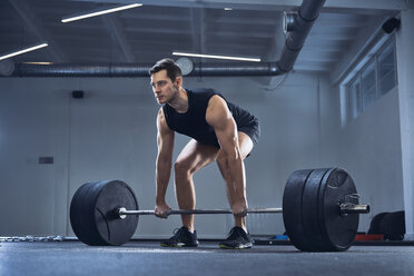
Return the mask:
{"type": "Polygon", "coordinates": [[[348,172],[342,168],[331,170],[321,184],[319,224],[328,241],[327,252],[346,250],[355,240],[358,229],[359,214],[341,215],[339,204],[358,204],[356,188],[348,172]],[[326,180],[325,180],[326,179],[326,180]]]}

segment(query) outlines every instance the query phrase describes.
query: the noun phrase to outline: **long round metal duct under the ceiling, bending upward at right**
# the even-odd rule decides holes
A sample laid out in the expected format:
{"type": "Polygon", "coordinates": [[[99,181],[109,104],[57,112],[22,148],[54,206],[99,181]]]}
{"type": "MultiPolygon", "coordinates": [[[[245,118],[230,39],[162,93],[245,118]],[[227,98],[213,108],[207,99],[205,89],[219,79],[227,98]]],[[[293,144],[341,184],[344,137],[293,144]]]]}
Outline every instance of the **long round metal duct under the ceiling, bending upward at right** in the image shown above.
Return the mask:
{"type": "MultiPolygon", "coordinates": [[[[290,71],[312,26],[319,16],[326,0],[304,0],[295,17],[280,59],[276,62],[216,62],[195,63],[187,76],[278,76],[290,71]]],[[[102,65],[30,65],[19,63],[16,77],[148,77],[150,63],[102,63],[102,65]]]]}

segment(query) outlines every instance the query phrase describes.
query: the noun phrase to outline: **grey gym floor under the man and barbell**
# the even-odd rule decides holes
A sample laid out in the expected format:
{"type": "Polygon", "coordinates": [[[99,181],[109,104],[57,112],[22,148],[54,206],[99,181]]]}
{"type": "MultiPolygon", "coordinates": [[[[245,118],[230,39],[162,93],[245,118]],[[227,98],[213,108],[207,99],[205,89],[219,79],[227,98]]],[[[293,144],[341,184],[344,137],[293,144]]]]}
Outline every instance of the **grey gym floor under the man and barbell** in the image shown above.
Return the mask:
{"type": "Polygon", "coordinates": [[[156,241],[90,247],[79,241],[1,243],[0,275],[414,275],[413,246],[353,246],[343,253],[302,253],[259,245],[224,250],[164,248],[156,241]]]}

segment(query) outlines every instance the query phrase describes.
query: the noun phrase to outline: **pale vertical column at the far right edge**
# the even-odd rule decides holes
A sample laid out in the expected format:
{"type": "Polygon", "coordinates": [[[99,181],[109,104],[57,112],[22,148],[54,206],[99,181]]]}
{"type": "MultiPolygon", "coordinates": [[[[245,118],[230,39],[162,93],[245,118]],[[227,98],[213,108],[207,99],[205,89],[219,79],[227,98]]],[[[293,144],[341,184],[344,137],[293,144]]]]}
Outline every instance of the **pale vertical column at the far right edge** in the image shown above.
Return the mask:
{"type": "Polygon", "coordinates": [[[406,240],[414,240],[414,9],[401,12],[396,33],[406,240]]]}

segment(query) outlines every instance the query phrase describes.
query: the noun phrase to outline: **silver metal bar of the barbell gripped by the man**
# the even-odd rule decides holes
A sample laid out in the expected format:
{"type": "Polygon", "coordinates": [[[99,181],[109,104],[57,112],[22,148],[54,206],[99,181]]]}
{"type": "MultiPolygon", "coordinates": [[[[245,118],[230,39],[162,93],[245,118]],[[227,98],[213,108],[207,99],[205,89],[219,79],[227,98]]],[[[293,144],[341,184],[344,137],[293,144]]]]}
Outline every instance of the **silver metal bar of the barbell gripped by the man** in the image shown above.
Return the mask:
{"type": "MultiPolygon", "coordinates": [[[[357,205],[357,204],[338,204],[338,211],[343,215],[346,214],[368,214],[369,205],[357,205]]],[[[115,210],[119,218],[124,219],[130,215],[155,215],[155,210],[127,210],[124,207],[119,207],[115,210]]],[[[282,207],[275,208],[249,208],[247,214],[283,214],[282,207]]],[[[179,210],[169,210],[167,216],[170,215],[216,215],[216,214],[233,214],[230,209],[179,209],[179,210]]]]}

